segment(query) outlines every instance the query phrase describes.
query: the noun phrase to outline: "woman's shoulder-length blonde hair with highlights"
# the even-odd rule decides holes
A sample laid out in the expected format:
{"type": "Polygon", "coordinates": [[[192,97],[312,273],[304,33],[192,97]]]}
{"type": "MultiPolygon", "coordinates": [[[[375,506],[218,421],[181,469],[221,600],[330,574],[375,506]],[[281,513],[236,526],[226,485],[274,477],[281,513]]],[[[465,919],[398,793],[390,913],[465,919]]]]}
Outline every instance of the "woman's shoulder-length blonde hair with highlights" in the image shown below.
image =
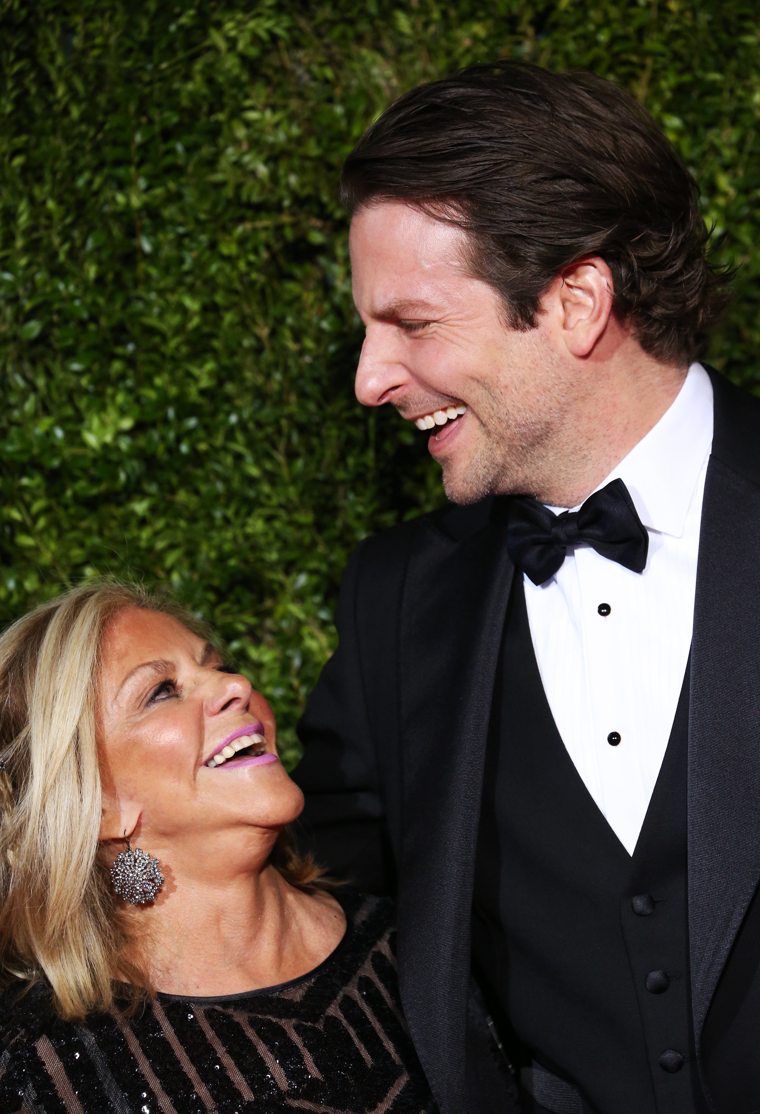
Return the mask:
{"type": "MultiPolygon", "coordinates": [[[[97,686],[103,633],[126,607],[190,615],[140,587],[75,588],[0,637],[0,976],[43,976],[53,1005],[81,1020],[112,1000],[129,942],[100,851],[97,686]]],[[[318,885],[286,831],[273,862],[295,886],[318,885]]],[[[131,950],[131,949],[130,949],[131,950]]]]}

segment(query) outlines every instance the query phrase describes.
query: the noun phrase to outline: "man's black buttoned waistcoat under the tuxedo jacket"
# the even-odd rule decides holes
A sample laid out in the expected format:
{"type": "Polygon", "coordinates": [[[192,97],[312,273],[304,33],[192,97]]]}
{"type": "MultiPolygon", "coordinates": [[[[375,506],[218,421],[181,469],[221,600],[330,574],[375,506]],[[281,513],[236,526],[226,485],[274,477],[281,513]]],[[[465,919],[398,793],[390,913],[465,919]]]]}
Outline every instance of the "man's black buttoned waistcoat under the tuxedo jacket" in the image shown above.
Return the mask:
{"type": "Polygon", "coordinates": [[[556,730],[515,577],[486,752],[473,967],[515,1058],[572,1082],[599,1114],[703,1108],[689,991],[688,680],[687,667],[631,858],[556,730]]]}

